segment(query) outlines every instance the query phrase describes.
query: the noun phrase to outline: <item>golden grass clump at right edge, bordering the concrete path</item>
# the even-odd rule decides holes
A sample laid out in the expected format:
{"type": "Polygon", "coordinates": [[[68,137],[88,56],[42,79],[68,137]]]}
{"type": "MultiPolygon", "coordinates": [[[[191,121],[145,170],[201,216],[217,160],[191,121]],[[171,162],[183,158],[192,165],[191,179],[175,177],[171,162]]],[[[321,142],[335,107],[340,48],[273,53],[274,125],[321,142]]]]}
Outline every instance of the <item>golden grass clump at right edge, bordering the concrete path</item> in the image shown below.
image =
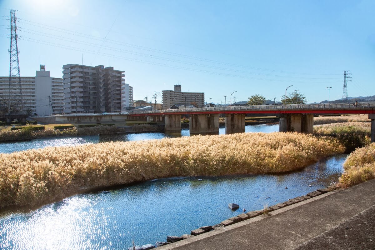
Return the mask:
{"type": "Polygon", "coordinates": [[[357,148],[344,163],[340,183],[351,187],[375,178],[375,143],[357,148]]]}

